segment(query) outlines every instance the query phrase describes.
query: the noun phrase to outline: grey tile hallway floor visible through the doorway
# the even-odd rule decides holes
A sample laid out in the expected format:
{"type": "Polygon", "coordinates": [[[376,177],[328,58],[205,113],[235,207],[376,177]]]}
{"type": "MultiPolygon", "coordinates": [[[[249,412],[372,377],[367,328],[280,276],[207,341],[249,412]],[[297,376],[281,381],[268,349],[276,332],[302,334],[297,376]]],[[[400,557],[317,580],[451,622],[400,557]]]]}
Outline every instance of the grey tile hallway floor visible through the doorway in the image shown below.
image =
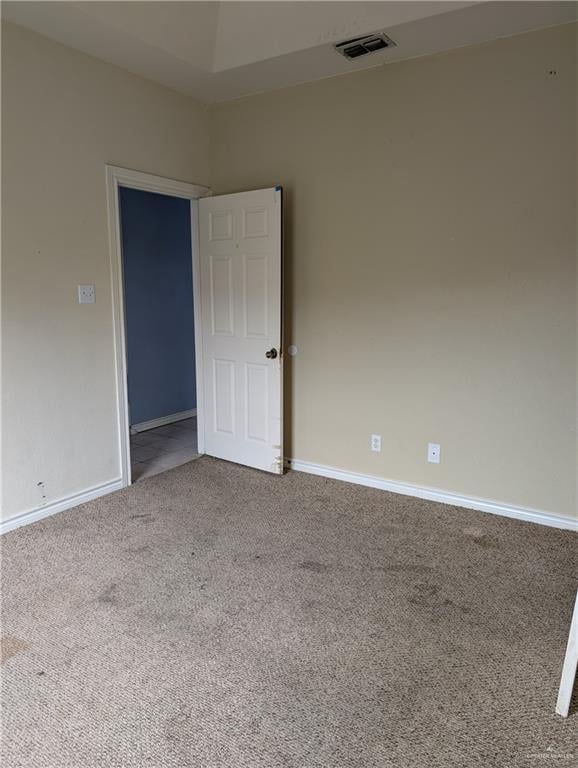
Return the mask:
{"type": "Polygon", "coordinates": [[[197,419],[131,435],[130,455],[133,483],[198,458],[197,419]]]}

